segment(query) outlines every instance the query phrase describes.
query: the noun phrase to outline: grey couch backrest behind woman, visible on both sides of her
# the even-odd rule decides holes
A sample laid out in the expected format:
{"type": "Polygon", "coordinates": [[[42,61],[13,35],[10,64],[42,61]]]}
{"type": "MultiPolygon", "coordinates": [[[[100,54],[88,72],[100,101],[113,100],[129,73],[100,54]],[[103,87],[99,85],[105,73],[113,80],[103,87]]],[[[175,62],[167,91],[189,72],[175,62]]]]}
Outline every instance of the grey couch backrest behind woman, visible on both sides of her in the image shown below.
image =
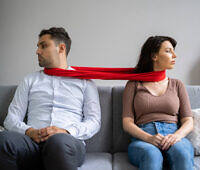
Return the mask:
{"type": "MultiPolygon", "coordinates": [[[[186,86],[192,109],[200,108],[200,86],[186,86]]],[[[122,95],[124,87],[113,87],[113,151],[126,152],[130,135],[122,129],[122,95]]]]}

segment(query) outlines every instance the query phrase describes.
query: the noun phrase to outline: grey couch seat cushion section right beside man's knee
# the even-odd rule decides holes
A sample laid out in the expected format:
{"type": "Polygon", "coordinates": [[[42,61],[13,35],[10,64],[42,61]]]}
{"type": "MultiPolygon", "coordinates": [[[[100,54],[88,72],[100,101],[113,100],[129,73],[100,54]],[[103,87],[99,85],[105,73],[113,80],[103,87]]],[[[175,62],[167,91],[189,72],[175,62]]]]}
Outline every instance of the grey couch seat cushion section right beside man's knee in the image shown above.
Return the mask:
{"type": "Polygon", "coordinates": [[[86,153],[86,158],[78,170],[112,170],[112,155],[109,153],[86,153]]]}

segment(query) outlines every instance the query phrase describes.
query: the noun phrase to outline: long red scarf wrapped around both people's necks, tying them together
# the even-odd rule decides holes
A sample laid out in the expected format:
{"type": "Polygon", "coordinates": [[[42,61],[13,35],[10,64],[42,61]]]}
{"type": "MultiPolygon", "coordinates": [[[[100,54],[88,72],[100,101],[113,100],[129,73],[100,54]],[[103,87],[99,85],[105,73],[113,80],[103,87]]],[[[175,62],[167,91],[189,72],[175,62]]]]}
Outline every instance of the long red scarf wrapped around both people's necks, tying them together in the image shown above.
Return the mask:
{"type": "Polygon", "coordinates": [[[166,77],[165,70],[147,73],[133,73],[135,68],[71,67],[75,70],[45,68],[44,73],[52,76],[104,80],[161,81],[166,77]]]}

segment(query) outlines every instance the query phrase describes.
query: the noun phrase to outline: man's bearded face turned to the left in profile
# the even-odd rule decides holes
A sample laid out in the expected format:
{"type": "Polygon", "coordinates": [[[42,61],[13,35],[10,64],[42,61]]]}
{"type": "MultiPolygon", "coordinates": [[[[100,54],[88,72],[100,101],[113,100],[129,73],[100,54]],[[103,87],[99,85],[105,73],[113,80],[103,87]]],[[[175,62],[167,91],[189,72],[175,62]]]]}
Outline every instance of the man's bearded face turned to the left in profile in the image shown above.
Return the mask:
{"type": "Polygon", "coordinates": [[[36,54],[40,67],[53,68],[58,62],[59,47],[51,39],[51,35],[46,34],[39,38],[36,54]]]}

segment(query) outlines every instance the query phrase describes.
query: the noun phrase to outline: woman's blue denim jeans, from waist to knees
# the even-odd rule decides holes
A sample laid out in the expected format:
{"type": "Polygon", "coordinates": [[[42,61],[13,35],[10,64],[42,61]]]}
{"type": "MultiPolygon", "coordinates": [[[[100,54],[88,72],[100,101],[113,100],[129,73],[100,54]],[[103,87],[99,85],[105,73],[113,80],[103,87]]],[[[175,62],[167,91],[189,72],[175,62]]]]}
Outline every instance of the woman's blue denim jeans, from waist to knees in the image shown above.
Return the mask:
{"type": "MultiPolygon", "coordinates": [[[[178,129],[177,124],[165,122],[151,122],[139,127],[151,135],[160,133],[163,136],[173,134],[178,129]]],[[[172,170],[193,170],[194,165],[194,149],[186,138],[164,151],[150,143],[132,138],[128,146],[128,157],[140,170],[162,170],[163,159],[172,170]]]]}

